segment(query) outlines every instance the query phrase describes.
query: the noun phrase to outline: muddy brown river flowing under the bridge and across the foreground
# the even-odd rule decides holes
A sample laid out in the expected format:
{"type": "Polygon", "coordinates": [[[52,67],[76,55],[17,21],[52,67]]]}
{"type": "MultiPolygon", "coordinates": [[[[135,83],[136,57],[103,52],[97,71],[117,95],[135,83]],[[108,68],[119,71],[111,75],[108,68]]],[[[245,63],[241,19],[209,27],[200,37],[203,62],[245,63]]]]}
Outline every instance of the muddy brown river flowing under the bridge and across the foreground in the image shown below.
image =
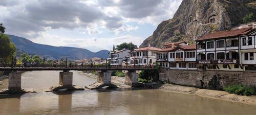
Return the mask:
{"type": "MultiPolygon", "coordinates": [[[[38,93],[0,96],[0,114],[255,114],[256,106],[173,93],[161,89],[99,89],[43,92],[58,84],[59,72],[22,74],[22,87],[38,93]]],[[[73,71],[73,84],[96,79],[73,71]]]]}

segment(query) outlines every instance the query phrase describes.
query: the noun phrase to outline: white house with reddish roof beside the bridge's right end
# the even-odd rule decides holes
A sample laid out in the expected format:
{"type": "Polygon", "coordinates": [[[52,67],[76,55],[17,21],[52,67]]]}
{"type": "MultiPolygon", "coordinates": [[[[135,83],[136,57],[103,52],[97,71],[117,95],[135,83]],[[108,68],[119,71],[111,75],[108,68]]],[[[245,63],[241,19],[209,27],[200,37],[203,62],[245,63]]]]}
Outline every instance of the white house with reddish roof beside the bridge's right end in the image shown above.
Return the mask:
{"type": "Polygon", "coordinates": [[[156,51],[161,49],[151,47],[134,49],[130,53],[130,64],[131,65],[151,65],[156,62],[156,51]]]}

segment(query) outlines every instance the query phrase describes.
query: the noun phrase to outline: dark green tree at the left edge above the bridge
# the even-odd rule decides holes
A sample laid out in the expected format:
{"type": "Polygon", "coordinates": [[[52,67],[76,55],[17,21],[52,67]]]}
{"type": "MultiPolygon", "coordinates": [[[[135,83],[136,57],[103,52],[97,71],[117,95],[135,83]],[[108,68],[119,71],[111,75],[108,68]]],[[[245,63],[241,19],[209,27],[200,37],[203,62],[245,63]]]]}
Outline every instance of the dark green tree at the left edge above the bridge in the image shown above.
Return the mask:
{"type": "MultiPolygon", "coordinates": [[[[1,28],[3,28],[2,25],[0,25],[0,29],[1,28]]],[[[3,31],[1,30],[1,32],[3,31]]],[[[9,37],[3,33],[0,33],[0,63],[11,63],[11,59],[15,52],[16,47],[10,41],[9,37]]]]}

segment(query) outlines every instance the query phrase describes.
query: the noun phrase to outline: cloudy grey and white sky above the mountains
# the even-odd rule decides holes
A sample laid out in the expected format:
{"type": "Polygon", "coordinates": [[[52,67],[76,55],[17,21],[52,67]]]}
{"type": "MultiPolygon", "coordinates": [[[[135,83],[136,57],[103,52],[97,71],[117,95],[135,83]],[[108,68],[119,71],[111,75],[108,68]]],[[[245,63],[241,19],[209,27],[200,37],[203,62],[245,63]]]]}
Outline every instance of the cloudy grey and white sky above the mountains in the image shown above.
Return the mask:
{"type": "Polygon", "coordinates": [[[111,50],[140,45],[182,0],[0,0],[6,34],[53,46],[111,50]]]}

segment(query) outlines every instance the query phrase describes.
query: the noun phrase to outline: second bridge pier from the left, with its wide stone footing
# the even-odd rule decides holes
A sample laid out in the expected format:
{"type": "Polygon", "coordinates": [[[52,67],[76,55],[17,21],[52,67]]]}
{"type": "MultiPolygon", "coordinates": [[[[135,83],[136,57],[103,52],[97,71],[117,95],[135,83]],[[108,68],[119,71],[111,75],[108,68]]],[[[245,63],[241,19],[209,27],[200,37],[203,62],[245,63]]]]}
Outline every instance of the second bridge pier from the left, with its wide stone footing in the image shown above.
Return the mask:
{"type": "Polygon", "coordinates": [[[83,90],[84,88],[73,85],[73,72],[65,71],[59,72],[59,85],[52,86],[50,90],[47,91],[57,91],[60,89],[83,90]]]}

